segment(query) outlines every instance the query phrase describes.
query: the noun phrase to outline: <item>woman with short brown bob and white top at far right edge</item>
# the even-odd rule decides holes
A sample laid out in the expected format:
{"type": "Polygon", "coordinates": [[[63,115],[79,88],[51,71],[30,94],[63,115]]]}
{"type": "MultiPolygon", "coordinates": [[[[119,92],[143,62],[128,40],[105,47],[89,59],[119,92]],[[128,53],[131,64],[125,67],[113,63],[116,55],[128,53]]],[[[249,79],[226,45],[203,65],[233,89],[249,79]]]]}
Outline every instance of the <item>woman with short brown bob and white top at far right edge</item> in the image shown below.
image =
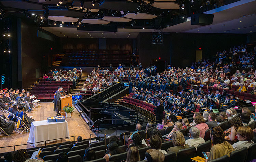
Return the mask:
{"type": "Polygon", "coordinates": [[[238,129],[237,129],[237,139],[239,141],[232,145],[234,150],[239,150],[243,147],[247,147],[247,149],[249,149],[249,146],[254,143],[252,141],[253,136],[254,136],[254,133],[253,133],[253,130],[250,127],[248,127],[248,126],[238,127],[238,129]]]}

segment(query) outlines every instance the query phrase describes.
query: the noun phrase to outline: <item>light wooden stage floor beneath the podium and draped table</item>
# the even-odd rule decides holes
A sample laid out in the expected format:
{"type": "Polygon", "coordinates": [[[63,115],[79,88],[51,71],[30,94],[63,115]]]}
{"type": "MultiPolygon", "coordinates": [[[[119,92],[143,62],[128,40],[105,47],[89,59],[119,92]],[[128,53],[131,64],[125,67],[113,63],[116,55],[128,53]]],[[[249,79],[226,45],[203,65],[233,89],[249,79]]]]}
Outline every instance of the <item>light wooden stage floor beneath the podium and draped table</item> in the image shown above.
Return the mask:
{"type": "MultiPolygon", "coordinates": [[[[41,102],[40,104],[41,106],[35,108],[34,111],[32,111],[31,113],[27,113],[27,115],[29,117],[33,116],[32,119],[35,119],[35,121],[47,120],[47,117],[56,116],[56,112],[53,111],[54,104],[52,102],[41,102]]],[[[0,112],[0,114],[3,114],[3,112],[0,112]]],[[[4,113],[4,115],[7,117],[6,113],[4,113]]],[[[90,134],[92,134],[92,138],[96,137],[96,135],[89,129],[89,126],[86,124],[86,122],[82,119],[82,117],[79,116],[79,113],[76,109],[73,112],[73,117],[66,118],[66,121],[68,122],[69,135],[75,136],[75,140],[78,136],[82,136],[83,139],[88,139],[90,138],[90,134]]],[[[17,146],[15,147],[15,150],[21,148],[32,148],[32,146],[27,143],[28,136],[29,133],[27,133],[26,131],[24,131],[22,134],[13,131],[11,136],[5,136],[3,134],[0,134],[0,147],[28,144],[23,146],[17,146]]],[[[51,143],[47,143],[46,145],[61,143],[65,141],[73,141],[73,138],[53,141],[51,143]]],[[[40,145],[37,145],[37,147],[38,146],[40,145]]],[[[14,151],[14,147],[0,148],[0,153],[9,151],[14,151]]]]}

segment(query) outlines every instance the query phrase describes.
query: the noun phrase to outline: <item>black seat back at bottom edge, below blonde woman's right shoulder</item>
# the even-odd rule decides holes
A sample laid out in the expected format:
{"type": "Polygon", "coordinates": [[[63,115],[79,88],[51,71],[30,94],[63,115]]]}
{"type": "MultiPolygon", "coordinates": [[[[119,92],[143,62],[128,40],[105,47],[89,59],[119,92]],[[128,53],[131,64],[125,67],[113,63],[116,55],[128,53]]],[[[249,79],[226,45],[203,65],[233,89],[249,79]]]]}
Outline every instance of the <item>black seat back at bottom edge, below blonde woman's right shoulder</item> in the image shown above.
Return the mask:
{"type": "Polygon", "coordinates": [[[176,161],[177,162],[191,161],[191,158],[195,157],[195,154],[196,154],[196,148],[194,146],[179,150],[177,152],[176,161]]]}

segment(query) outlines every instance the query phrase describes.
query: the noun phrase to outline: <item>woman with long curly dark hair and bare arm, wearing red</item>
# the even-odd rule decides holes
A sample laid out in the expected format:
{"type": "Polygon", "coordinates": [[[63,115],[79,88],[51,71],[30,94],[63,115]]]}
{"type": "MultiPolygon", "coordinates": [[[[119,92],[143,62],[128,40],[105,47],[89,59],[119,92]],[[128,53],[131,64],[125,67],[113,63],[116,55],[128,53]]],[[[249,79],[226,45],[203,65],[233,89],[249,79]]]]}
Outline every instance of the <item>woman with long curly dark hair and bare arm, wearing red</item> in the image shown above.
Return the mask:
{"type": "Polygon", "coordinates": [[[243,126],[242,120],[239,117],[233,117],[231,128],[229,128],[227,131],[224,131],[225,134],[229,133],[229,135],[225,137],[229,138],[231,141],[237,140],[237,129],[240,126],[243,126]]]}

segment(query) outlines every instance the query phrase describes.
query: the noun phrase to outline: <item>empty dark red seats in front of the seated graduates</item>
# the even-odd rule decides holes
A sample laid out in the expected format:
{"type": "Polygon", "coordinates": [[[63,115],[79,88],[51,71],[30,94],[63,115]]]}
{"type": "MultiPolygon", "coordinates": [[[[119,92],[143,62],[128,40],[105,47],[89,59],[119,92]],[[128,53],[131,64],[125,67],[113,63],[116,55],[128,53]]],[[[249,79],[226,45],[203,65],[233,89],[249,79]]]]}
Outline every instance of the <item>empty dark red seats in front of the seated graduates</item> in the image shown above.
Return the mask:
{"type": "MultiPolygon", "coordinates": [[[[143,114],[144,116],[150,118],[151,120],[156,120],[156,115],[154,113],[154,109],[156,109],[156,106],[149,104],[147,102],[143,102],[138,99],[134,99],[131,97],[123,97],[122,101],[119,101],[119,103],[123,106],[129,107],[135,111],[138,111],[139,113],[143,114]]],[[[165,116],[165,112],[163,114],[165,116]]]]}

